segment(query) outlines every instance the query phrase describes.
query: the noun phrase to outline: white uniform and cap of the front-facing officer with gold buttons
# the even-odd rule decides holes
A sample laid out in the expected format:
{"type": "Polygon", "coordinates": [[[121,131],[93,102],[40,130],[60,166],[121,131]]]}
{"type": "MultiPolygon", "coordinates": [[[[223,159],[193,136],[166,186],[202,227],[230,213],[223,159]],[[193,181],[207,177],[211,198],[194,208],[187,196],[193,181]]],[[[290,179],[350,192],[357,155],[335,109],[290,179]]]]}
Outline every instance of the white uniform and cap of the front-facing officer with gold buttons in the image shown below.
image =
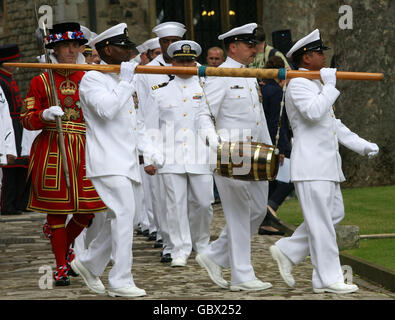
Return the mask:
{"type": "MultiPolygon", "coordinates": [[[[185,45],[194,51],[200,48],[196,42],[181,40],[169,46],[169,55],[173,57],[185,45]]],[[[163,137],[165,163],[159,173],[166,191],[171,257],[173,262],[181,259],[186,263],[192,247],[199,253],[209,244],[214,201],[209,150],[199,138],[195,124],[203,92],[196,76],[188,79],[176,76],[166,86],[154,90],[153,97],[163,137]]]]}

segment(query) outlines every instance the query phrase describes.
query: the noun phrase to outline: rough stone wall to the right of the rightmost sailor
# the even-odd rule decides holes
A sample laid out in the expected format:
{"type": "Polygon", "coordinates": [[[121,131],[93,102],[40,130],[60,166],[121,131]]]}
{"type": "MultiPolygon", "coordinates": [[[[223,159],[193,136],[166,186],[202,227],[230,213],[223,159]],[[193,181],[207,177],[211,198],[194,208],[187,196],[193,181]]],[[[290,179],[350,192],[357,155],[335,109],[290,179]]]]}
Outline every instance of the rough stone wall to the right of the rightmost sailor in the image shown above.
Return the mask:
{"type": "Polygon", "coordinates": [[[394,1],[349,0],[353,29],[337,29],[338,69],[383,72],[384,81],[339,81],[336,114],[359,136],[377,143],[380,154],[368,160],[341,149],[346,185],[395,183],[394,1]]]}

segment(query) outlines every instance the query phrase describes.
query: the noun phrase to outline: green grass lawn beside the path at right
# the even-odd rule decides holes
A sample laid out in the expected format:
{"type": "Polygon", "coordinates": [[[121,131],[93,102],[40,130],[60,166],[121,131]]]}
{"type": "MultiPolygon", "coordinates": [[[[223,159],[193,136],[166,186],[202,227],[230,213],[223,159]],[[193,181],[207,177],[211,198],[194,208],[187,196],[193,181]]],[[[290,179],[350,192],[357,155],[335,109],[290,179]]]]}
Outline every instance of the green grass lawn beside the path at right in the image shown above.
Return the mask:
{"type": "MultiPolygon", "coordinates": [[[[343,189],[342,193],[346,215],[341,224],[359,226],[361,235],[395,233],[395,185],[343,189]]],[[[303,215],[298,200],[286,200],[278,216],[299,225],[303,215]]],[[[345,252],[395,270],[395,238],[363,239],[359,249],[345,252]]]]}

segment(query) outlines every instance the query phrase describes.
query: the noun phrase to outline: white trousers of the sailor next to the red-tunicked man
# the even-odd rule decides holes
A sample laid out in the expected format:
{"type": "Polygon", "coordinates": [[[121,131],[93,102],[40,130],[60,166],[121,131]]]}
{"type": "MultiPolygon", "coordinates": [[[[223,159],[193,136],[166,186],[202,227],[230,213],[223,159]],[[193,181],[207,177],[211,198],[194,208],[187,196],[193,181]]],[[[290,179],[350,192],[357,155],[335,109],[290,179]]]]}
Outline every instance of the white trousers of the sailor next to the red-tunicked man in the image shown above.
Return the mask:
{"type": "Polygon", "coordinates": [[[98,277],[112,258],[109,287],[134,286],[131,270],[136,183],[123,176],[91,178],[91,181],[108,210],[104,213],[105,223],[98,236],[78,258],[98,277]]]}

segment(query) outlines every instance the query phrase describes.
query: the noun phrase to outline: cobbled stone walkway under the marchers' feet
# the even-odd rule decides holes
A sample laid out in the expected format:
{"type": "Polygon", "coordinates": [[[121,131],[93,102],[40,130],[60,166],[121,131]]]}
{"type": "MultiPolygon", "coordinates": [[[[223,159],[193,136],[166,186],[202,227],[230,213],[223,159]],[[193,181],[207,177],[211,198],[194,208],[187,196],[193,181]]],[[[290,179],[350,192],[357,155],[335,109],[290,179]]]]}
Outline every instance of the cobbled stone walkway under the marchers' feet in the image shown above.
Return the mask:
{"type": "MultiPolygon", "coordinates": [[[[71,278],[68,287],[45,288],[45,270],[55,268],[50,242],[42,234],[45,215],[38,213],[22,216],[0,216],[0,299],[2,300],[98,300],[114,299],[90,292],[80,277],[71,278]],[[41,268],[41,269],[40,269],[41,268]],[[40,273],[41,270],[41,273],[40,273]],[[41,279],[41,280],[40,280],[41,279]],[[41,286],[41,288],[40,288],[41,286]]],[[[214,206],[212,238],[215,239],[224,225],[220,205],[214,206]]],[[[252,263],[256,276],[269,281],[273,288],[261,292],[230,292],[211,282],[206,271],[199,267],[192,253],[185,268],[172,268],[160,263],[160,250],[153,248],[153,241],[134,237],[133,275],[136,285],[147,292],[139,300],[395,300],[395,294],[375,287],[354,276],[360,290],[348,295],[314,294],[311,286],[310,261],[294,268],[296,285],[290,289],[282,281],[269,246],[278,236],[254,235],[252,263]]],[[[107,285],[106,269],[102,277],[107,285]]],[[[224,272],[230,280],[230,272],[224,272]]]]}

